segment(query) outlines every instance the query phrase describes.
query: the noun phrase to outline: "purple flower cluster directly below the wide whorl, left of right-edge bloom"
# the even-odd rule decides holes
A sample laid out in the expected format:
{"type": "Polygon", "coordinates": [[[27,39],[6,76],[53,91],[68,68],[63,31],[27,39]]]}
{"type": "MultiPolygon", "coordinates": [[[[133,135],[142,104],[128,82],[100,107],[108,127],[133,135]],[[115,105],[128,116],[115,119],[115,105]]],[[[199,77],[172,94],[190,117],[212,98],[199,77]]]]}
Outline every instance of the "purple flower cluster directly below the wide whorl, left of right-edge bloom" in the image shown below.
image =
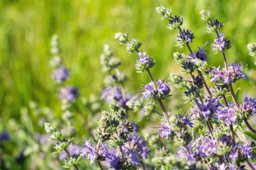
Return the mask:
{"type": "Polygon", "coordinates": [[[216,118],[223,120],[226,125],[231,125],[237,122],[236,110],[234,103],[229,106],[223,106],[220,110],[216,111],[216,118]]]}

